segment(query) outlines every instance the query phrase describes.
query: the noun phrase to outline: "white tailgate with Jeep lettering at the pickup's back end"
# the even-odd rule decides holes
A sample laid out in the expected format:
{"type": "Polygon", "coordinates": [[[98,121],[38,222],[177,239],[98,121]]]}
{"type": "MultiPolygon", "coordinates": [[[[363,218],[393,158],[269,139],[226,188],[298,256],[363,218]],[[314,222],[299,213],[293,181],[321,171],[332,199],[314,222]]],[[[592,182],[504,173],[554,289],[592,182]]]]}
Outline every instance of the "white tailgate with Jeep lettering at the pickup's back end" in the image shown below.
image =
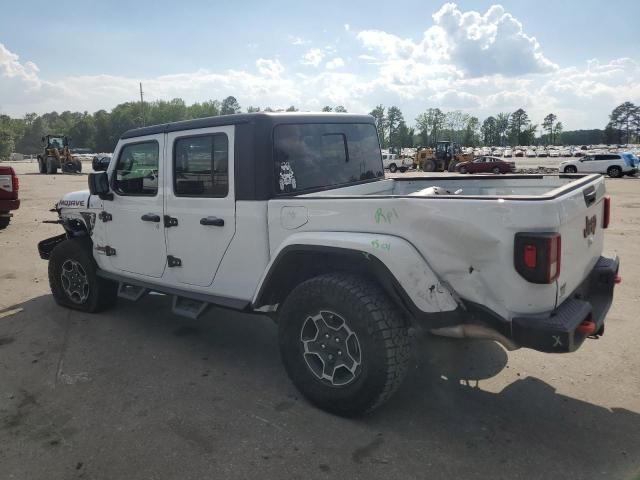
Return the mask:
{"type": "Polygon", "coordinates": [[[562,260],[557,280],[560,305],[587,278],[602,254],[604,241],[604,178],[558,199],[562,260]]]}

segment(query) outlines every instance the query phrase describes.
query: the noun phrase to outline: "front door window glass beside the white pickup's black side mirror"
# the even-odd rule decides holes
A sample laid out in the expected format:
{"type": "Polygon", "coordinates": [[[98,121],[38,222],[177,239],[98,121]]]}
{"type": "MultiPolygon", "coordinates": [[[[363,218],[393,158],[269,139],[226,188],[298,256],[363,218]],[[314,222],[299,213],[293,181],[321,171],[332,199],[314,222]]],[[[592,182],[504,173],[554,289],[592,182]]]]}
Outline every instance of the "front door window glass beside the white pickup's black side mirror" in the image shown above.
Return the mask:
{"type": "Polygon", "coordinates": [[[122,147],[113,177],[113,190],[118,195],[156,195],[158,150],[155,140],[122,147]]]}

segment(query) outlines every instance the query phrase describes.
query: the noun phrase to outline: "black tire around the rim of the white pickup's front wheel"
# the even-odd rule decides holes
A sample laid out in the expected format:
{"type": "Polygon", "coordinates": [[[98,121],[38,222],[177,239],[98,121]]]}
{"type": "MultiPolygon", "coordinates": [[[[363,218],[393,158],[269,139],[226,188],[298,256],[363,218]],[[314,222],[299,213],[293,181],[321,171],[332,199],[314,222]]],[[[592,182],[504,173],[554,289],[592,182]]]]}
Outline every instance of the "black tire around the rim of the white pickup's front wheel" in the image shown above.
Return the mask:
{"type": "Polygon", "coordinates": [[[88,238],[70,238],[58,244],[49,257],[49,286],[58,305],[95,313],[113,306],[118,298],[118,284],[97,276],[98,266],[92,257],[92,244],[88,238]],[[77,303],[65,292],[62,268],[67,260],[77,262],[86,273],[88,296],[77,303]]]}

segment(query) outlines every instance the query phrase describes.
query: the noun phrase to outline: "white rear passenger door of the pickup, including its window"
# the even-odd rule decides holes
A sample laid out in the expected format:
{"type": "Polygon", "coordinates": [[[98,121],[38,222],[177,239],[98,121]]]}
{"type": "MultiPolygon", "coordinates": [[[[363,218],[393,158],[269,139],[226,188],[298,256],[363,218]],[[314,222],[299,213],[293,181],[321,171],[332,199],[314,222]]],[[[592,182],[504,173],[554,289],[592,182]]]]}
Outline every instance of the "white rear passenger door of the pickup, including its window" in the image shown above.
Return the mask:
{"type": "Polygon", "coordinates": [[[233,142],[233,126],[167,135],[171,281],[202,287],[213,283],[236,226],[233,142]]]}

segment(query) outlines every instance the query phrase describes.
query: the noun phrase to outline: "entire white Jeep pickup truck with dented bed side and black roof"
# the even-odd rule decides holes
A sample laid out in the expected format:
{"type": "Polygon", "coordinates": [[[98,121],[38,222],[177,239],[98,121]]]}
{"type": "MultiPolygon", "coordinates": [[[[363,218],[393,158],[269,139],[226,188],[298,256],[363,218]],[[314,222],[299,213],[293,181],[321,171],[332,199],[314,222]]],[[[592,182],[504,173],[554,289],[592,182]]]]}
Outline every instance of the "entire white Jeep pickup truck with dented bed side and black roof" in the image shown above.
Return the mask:
{"type": "Polygon", "coordinates": [[[571,352],[604,332],[600,175],[385,179],[374,121],[239,114],[126,132],[40,242],[57,303],[172,296],[270,315],[284,366],[341,415],[381,405],[409,331],[571,352]],[[411,329],[414,327],[413,329],[411,329]]]}

